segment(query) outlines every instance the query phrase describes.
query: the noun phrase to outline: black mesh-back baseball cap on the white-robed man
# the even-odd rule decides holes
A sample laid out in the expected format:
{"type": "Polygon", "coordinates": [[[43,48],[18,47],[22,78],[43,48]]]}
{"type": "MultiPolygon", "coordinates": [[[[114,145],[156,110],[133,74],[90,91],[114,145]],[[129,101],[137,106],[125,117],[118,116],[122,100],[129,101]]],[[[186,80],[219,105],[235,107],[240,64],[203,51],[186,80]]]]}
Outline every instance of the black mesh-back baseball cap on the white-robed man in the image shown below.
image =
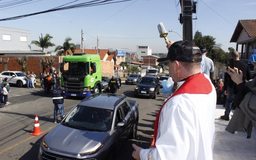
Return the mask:
{"type": "Polygon", "coordinates": [[[168,60],[177,60],[183,62],[201,62],[201,58],[193,58],[197,53],[201,53],[200,49],[193,42],[183,40],[174,42],[168,51],[167,57],[159,58],[157,62],[165,62],[168,60]]]}

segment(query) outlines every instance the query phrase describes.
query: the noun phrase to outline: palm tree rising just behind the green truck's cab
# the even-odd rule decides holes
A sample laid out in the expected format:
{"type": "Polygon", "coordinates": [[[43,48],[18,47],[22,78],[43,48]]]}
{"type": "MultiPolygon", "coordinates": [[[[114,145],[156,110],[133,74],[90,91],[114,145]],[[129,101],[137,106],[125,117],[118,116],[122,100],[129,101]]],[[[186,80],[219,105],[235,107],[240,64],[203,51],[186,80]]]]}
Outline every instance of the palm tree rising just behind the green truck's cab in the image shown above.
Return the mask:
{"type": "Polygon", "coordinates": [[[65,38],[65,42],[63,43],[63,46],[58,45],[54,52],[58,51],[56,56],[62,56],[62,55],[68,55],[70,54],[69,52],[71,51],[72,53],[75,52],[76,45],[74,43],[69,43],[71,41],[71,37],[65,38]],[[68,53],[68,54],[67,54],[68,53]]]}

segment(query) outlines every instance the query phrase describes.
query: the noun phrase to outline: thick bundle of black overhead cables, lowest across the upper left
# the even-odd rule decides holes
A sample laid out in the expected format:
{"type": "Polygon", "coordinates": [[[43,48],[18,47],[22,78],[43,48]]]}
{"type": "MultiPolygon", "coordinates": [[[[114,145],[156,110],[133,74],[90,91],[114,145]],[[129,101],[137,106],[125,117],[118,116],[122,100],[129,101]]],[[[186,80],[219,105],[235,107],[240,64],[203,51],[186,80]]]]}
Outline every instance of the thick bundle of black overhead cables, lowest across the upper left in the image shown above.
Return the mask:
{"type": "Polygon", "coordinates": [[[105,0],[105,1],[95,0],[95,1],[91,1],[91,2],[86,2],[86,3],[81,3],[81,4],[66,6],[66,7],[61,7],[61,8],[59,8],[60,7],[59,6],[59,7],[56,7],[54,9],[50,9],[50,10],[46,10],[46,11],[42,11],[42,12],[36,12],[36,13],[25,14],[25,15],[16,16],[16,17],[0,19],[0,21],[16,20],[16,19],[20,19],[20,18],[32,16],[32,15],[37,15],[37,14],[42,14],[42,13],[47,13],[47,12],[54,12],[54,11],[67,10],[67,9],[73,9],[73,8],[81,8],[81,7],[89,7],[89,6],[96,6],[96,5],[104,5],[104,4],[112,4],[112,3],[126,2],[126,1],[131,1],[131,0],[122,0],[122,1],[117,1],[117,2],[108,2],[108,1],[113,1],[113,0],[105,0]],[[101,1],[101,2],[97,2],[97,1],[101,1]]]}

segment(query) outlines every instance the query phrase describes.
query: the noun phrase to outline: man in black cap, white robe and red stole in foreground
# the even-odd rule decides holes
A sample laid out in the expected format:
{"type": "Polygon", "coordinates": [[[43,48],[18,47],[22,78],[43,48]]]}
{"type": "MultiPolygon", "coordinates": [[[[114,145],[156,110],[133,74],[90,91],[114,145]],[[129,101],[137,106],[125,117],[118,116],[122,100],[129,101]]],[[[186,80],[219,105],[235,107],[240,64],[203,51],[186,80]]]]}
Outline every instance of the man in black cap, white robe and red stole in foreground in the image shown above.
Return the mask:
{"type": "Polygon", "coordinates": [[[157,61],[168,60],[179,88],[158,112],[150,149],[132,144],[132,156],[137,160],[212,159],[216,91],[209,76],[200,73],[202,53],[187,40],[166,43],[170,46],[167,58],[157,61]]]}

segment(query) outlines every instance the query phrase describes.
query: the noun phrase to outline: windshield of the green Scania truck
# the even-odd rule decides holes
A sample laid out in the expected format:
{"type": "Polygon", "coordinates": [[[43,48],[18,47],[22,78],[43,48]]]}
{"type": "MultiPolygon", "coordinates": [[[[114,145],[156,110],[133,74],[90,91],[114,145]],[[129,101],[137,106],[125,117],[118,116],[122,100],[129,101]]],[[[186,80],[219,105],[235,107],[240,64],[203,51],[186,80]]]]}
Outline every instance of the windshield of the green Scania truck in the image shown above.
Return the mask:
{"type": "Polygon", "coordinates": [[[62,74],[88,75],[89,62],[67,62],[63,65],[62,74]]]}

